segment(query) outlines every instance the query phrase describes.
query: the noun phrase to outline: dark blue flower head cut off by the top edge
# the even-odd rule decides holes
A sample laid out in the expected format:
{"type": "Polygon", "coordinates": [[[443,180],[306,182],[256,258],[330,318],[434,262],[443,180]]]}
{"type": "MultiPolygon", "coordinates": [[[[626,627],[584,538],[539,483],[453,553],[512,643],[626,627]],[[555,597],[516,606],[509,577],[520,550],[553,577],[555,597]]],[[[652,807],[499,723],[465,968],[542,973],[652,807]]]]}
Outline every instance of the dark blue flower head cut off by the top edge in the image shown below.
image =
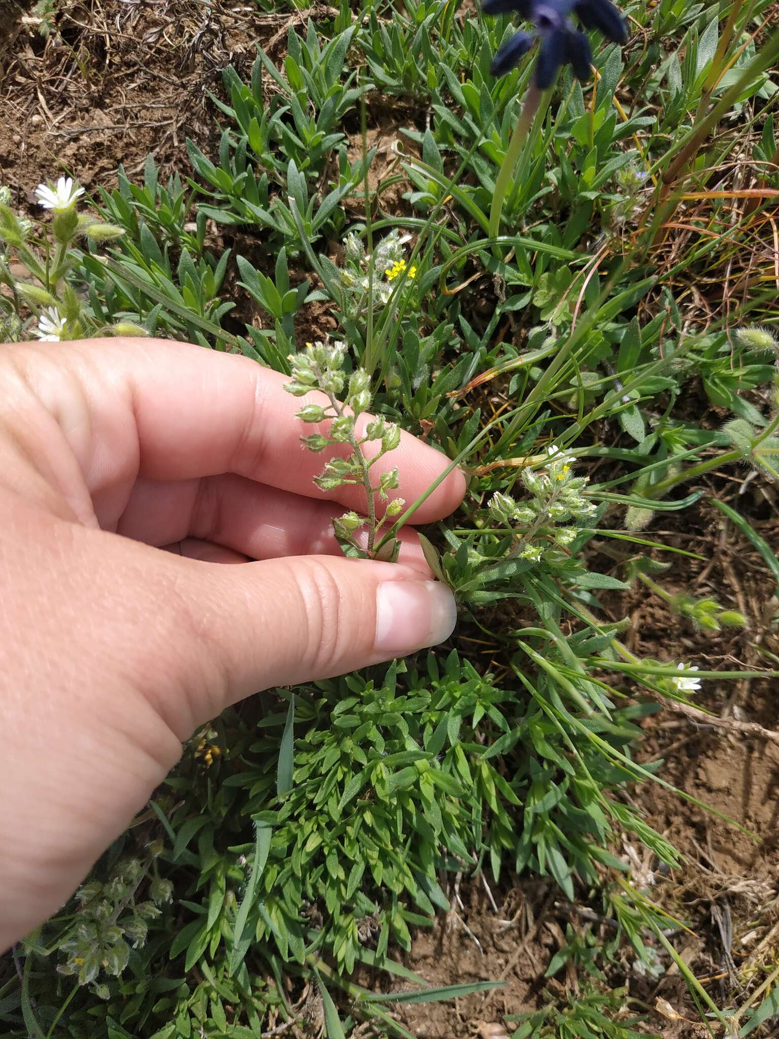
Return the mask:
{"type": "Polygon", "coordinates": [[[625,20],[610,0],[484,0],[485,15],[516,11],[535,24],[535,32],[517,32],[501,47],[492,59],[493,76],[503,76],[519,63],[534,41],[540,41],[535,83],[544,90],[552,86],[561,65],[570,64],[576,79],[590,78],[592,51],[584,32],[574,29],[575,15],[586,29],[598,29],[608,39],[627,39],[625,20]]]}

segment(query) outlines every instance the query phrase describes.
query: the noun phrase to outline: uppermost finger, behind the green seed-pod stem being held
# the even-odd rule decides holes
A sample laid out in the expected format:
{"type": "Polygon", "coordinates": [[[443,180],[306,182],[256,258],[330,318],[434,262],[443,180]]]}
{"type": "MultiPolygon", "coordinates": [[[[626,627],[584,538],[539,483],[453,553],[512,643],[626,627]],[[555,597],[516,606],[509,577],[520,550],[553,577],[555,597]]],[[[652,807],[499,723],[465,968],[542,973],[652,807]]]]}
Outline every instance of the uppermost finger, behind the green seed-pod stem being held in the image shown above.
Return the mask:
{"type": "MultiPolygon", "coordinates": [[[[325,494],[313,482],[327,457],[348,452],[348,447],[320,454],[307,450],[300,436],[313,427],[296,418],[306,398],[286,393],[286,376],[247,357],[147,339],[42,343],[24,348],[23,354],[30,358],[28,378],[38,383],[41,397],[51,398],[50,409],[69,436],[96,501],[115,500],[116,481],[128,477],[187,480],[236,473],[365,510],[361,488],[342,486],[325,494]],[[47,373],[31,364],[33,356],[49,362],[43,366],[47,373]],[[87,421],[68,421],[70,391],[60,366],[78,380],[87,421]]],[[[397,468],[400,486],[394,494],[410,503],[448,464],[440,452],[402,432],[398,448],[376,462],[373,482],[378,482],[379,473],[397,468]]],[[[448,515],[464,490],[464,477],[455,470],[420,507],[414,521],[448,515]]]]}

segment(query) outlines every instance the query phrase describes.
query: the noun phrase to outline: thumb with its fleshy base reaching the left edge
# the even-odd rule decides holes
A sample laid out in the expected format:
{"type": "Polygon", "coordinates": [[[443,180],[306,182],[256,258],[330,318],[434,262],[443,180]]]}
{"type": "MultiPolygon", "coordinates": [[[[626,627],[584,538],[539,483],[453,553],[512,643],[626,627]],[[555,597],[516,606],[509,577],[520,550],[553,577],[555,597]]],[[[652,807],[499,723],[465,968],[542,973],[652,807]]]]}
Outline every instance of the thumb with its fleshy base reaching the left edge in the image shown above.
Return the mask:
{"type": "Polygon", "coordinates": [[[23,518],[8,526],[19,543],[0,542],[0,951],[66,900],[199,724],[263,688],[433,645],[455,623],[451,591],[413,568],[223,566],[23,518]]]}

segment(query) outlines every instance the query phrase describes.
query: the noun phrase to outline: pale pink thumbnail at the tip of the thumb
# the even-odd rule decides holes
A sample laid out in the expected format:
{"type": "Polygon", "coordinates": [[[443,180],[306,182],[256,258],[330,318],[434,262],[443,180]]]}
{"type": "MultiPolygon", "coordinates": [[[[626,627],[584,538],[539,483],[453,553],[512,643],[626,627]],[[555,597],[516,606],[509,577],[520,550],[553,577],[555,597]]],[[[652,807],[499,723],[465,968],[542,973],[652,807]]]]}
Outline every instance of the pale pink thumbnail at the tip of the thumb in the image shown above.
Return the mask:
{"type": "Polygon", "coordinates": [[[376,591],[376,649],[402,657],[444,642],[457,622],[451,590],[439,581],[384,581],[376,591]]]}

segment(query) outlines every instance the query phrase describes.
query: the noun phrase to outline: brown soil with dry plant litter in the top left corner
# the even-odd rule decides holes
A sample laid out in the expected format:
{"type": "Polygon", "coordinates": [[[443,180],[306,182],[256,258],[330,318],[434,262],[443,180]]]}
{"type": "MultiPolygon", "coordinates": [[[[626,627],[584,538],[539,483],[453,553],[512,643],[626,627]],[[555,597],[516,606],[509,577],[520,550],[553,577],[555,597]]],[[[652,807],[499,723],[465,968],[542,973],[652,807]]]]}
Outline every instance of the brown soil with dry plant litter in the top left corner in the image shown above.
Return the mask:
{"type": "Polygon", "coordinates": [[[32,201],[60,171],[87,189],[136,175],[151,152],[163,174],[187,136],[214,135],[209,90],[240,71],[278,19],[194,0],[157,5],[100,0],[57,5],[47,38],[31,4],[0,0],[0,182],[32,201]]]}

